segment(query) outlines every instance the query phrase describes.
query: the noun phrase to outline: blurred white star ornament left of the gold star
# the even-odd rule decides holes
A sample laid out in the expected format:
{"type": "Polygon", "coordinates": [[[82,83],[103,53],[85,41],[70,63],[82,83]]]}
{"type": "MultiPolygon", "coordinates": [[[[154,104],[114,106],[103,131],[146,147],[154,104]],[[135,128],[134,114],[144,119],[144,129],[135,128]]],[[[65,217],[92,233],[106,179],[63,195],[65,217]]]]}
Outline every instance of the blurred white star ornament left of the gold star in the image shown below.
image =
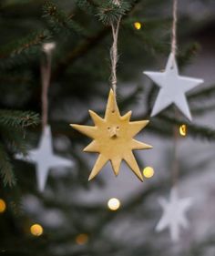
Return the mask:
{"type": "Polygon", "coordinates": [[[36,164],[36,179],[40,191],[45,189],[49,169],[56,167],[68,168],[72,165],[71,160],[58,157],[54,154],[51,128],[49,126],[44,128],[38,148],[29,150],[27,157],[17,155],[16,159],[24,159],[27,162],[36,164]]]}

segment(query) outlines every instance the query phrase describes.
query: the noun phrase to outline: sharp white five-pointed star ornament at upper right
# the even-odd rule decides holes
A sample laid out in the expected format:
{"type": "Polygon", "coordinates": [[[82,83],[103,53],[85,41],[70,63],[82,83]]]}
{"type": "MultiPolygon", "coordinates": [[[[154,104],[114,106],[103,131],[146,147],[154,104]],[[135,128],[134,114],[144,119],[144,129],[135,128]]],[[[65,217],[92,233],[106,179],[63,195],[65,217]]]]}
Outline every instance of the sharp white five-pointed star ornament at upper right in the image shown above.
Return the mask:
{"type": "Polygon", "coordinates": [[[179,70],[175,56],[171,53],[167,67],[164,72],[143,72],[159,87],[159,95],[152,109],[151,117],[156,116],[172,103],[191,120],[189,105],[185,94],[194,87],[199,86],[204,81],[191,77],[179,76],[179,70]]]}

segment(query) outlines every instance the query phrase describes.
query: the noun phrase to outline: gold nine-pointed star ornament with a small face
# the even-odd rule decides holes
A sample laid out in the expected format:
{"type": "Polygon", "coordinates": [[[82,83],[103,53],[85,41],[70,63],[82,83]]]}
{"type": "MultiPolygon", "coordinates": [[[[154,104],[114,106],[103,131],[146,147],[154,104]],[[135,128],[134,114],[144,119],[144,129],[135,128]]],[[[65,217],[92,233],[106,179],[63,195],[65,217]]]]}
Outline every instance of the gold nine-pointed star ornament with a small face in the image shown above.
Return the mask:
{"type": "Polygon", "coordinates": [[[142,128],[147,126],[148,120],[130,122],[131,111],[124,116],[120,116],[116,97],[112,89],[107,100],[105,118],[100,118],[92,110],[89,110],[89,115],[93,119],[95,127],[71,125],[89,138],[93,138],[93,141],[84,148],[84,151],[97,152],[99,154],[88,180],[97,176],[108,160],[111,161],[114,173],[118,176],[121,161],[125,160],[138,179],[142,181],[143,176],[132,150],[152,147],[139,142],[133,137],[142,128]]]}

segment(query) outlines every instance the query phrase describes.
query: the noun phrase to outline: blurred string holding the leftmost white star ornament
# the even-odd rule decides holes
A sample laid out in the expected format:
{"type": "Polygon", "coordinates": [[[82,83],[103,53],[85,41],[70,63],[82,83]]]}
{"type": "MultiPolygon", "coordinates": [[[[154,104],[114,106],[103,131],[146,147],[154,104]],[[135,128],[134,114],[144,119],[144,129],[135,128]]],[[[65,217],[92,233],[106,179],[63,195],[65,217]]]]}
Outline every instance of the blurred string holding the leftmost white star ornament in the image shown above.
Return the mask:
{"type": "Polygon", "coordinates": [[[41,63],[41,79],[42,79],[42,128],[46,128],[48,118],[48,87],[51,78],[51,62],[52,51],[55,48],[55,43],[46,43],[43,45],[43,51],[46,59],[41,63]]]}

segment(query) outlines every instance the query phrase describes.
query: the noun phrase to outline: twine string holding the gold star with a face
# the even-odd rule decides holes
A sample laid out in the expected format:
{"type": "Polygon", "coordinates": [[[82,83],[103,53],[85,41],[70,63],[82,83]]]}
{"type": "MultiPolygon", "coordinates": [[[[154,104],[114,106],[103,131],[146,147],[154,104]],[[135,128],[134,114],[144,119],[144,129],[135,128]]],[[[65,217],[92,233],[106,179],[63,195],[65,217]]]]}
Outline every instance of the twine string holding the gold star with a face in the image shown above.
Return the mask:
{"type": "MultiPolygon", "coordinates": [[[[118,0],[113,1],[114,5],[120,6],[118,0]]],[[[110,26],[112,28],[113,35],[113,45],[110,48],[110,61],[111,61],[111,85],[114,91],[114,95],[117,95],[117,65],[118,65],[118,30],[121,21],[121,15],[118,17],[117,22],[111,22],[110,26]]]]}

